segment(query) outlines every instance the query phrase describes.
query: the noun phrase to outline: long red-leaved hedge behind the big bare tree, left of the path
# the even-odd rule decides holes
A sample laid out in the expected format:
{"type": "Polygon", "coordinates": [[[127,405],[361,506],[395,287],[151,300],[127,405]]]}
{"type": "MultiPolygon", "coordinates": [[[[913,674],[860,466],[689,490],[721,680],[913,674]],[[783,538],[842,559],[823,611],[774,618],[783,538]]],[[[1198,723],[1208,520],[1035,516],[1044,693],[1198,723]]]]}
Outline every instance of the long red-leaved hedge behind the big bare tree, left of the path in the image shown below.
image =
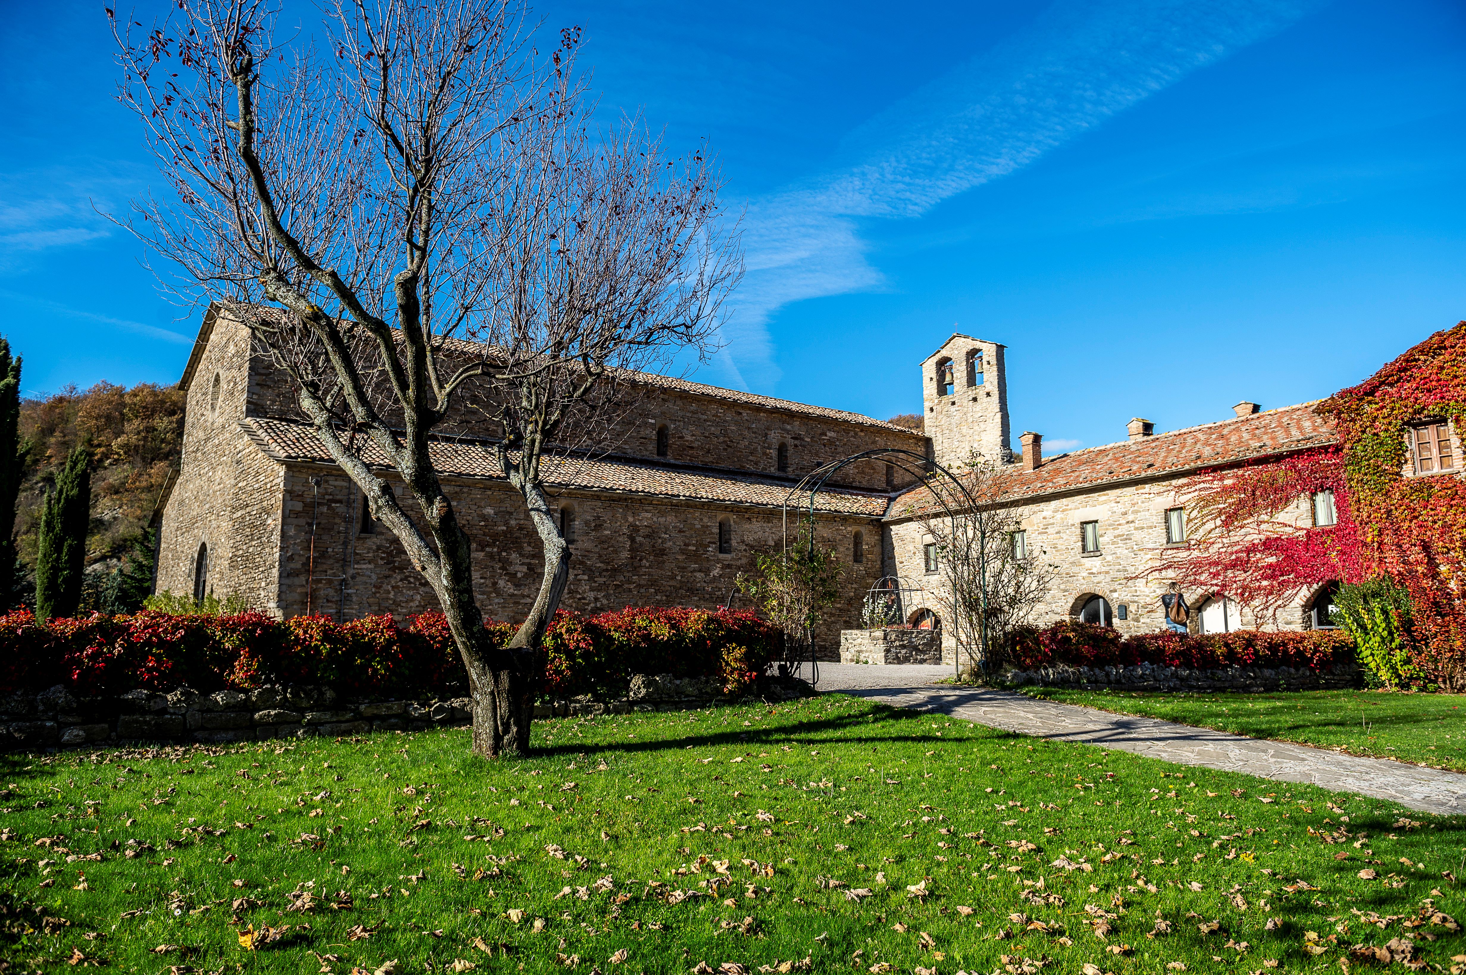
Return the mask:
{"type": "MultiPolygon", "coordinates": [[[[485,624],[503,646],[513,624],[485,624]]],[[[777,656],[777,631],[751,612],[685,608],[559,612],[542,644],[547,697],[617,697],[633,673],[752,684],[777,656]]],[[[142,610],[37,624],[26,609],[0,616],[0,691],[65,684],[79,694],[130,690],[248,690],[320,684],[355,695],[465,694],[468,673],[441,613],[334,622],[257,612],[177,616],[142,610]]]]}

